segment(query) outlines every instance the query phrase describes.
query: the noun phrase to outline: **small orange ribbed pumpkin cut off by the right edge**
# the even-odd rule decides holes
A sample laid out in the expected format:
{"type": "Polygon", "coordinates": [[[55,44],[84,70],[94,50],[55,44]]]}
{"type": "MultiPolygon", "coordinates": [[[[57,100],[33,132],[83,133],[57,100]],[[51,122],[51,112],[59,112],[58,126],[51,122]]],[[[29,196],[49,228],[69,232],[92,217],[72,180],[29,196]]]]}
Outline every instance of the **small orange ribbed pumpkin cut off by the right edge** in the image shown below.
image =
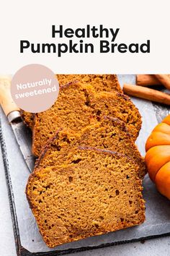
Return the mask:
{"type": "Polygon", "coordinates": [[[151,180],[170,200],[170,115],[156,125],[148,137],[145,160],[151,180]]]}

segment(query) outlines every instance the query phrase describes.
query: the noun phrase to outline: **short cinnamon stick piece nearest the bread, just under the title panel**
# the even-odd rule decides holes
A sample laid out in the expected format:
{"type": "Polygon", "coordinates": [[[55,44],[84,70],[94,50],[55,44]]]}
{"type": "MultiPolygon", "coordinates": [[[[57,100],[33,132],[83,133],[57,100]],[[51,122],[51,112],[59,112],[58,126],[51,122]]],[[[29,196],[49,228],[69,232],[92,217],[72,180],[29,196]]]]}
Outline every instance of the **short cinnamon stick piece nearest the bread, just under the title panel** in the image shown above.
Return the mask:
{"type": "Polygon", "coordinates": [[[161,82],[153,74],[137,74],[136,84],[140,86],[161,85],[161,82]]]}

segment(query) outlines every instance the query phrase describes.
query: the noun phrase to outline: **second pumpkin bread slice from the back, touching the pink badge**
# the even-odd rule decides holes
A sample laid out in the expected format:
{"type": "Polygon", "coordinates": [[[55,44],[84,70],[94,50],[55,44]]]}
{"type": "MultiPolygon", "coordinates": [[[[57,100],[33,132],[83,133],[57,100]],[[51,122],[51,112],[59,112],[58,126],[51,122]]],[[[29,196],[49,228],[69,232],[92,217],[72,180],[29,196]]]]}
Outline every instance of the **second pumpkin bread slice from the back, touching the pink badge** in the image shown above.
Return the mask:
{"type": "Polygon", "coordinates": [[[112,116],[125,121],[133,140],[138,137],[141,116],[130,98],[122,93],[95,93],[91,85],[80,82],[63,86],[55,104],[35,115],[33,153],[40,155],[42,146],[61,128],[75,132],[99,116],[112,116]]]}

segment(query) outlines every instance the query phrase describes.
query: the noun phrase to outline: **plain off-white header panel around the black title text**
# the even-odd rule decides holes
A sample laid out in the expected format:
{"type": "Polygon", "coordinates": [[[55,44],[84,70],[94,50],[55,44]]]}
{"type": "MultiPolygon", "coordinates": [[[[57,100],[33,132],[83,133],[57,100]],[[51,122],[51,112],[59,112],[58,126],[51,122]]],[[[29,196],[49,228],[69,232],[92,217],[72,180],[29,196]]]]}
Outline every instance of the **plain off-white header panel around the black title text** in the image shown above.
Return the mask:
{"type": "MultiPolygon", "coordinates": [[[[14,74],[24,65],[40,63],[55,73],[169,74],[170,1],[153,0],[50,0],[3,1],[0,17],[0,73],[14,74]],[[51,37],[51,25],[84,27],[104,25],[120,27],[117,43],[142,43],[151,40],[151,54],[99,54],[99,40],[94,54],[19,53],[19,41],[30,43],[68,42],[51,37]]],[[[71,39],[71,38],[70,38],[71,39]]],[[[76,41],[76,40],[75,40],[76,41]]]]}

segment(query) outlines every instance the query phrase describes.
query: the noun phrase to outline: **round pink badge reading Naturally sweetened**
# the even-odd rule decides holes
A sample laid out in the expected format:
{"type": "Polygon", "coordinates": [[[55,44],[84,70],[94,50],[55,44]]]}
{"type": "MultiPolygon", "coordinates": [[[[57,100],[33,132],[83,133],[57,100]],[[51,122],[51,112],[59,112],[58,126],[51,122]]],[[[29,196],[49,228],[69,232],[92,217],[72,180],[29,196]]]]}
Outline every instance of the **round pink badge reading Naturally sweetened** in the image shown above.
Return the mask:
{"type": "Polygon", "coordinates": [[[55,74],[40,64],[24,66],[12,78],[12,98],[24,111],[38,113],[47,110],[57,100],[58,92],[55,74]]]}

